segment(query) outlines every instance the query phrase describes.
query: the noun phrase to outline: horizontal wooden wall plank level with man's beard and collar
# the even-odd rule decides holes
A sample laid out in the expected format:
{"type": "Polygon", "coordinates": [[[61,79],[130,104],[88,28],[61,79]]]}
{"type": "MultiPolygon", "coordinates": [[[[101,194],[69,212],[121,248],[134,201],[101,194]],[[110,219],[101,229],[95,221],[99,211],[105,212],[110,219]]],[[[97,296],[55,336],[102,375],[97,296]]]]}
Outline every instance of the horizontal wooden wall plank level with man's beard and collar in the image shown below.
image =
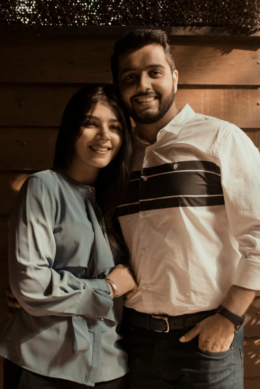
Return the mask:
{"type": "MultiPolygon", "coordinates": [[[[67,102],[82,86],[0,84],[0,126],[58,126],[67,102]]],[[[180,89],[177,107],[187,102],[195,112],[259,128],[260,89],[180,89]]]]}

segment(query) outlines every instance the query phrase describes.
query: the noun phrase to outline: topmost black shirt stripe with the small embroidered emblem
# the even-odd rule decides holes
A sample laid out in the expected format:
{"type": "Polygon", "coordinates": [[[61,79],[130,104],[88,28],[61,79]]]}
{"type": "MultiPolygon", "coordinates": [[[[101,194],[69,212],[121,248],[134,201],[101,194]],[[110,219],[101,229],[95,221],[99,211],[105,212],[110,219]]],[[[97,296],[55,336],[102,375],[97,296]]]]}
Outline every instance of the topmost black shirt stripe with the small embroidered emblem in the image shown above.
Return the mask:
{"type": "Polygon", "coordinates": [[[207,170],[212,173],[221,173],[220,167],[211,161],[181,161],[143,168],[142,176],[152,176],[153,174],[175,172],[178,170],[207,170]]]}

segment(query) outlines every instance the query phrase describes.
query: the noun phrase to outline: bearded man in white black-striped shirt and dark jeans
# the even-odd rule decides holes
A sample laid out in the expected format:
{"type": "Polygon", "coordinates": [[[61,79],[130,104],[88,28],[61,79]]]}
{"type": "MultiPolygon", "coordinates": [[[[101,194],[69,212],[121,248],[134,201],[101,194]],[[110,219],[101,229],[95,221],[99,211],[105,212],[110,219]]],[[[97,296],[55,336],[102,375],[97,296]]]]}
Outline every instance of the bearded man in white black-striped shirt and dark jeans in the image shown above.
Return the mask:
{"type": "Polygon", "coordinates": [[[118,208],[138,283],[125,304],[129,387],[242,389],[243,314],[260,289],[259,152],[235,125],[176,108],[163,31],[125,34],[111,66],[136,123],[118,208]]]}

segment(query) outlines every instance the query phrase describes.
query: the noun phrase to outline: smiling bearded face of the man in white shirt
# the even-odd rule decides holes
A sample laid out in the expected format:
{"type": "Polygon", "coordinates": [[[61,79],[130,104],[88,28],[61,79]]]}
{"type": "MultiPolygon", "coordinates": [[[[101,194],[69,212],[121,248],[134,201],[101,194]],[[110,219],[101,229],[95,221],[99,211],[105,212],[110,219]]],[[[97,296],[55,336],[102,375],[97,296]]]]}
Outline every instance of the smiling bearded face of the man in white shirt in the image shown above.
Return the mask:
{"type": "Polygon", "coordinates": [[[127,50],[119,57],[120,95],[137,123],[160,120],[174,102],[178,73],[172,74],[163,48],[147,45],[127,50]]]}

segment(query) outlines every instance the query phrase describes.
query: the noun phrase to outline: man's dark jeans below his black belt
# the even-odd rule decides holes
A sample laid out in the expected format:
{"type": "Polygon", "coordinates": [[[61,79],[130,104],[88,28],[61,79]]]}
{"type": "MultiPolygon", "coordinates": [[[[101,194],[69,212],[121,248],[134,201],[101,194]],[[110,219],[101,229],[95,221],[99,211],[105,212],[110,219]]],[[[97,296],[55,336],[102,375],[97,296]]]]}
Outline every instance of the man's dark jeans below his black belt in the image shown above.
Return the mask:
{"type": "Polygon", "coordinates": [[[243,327],[235,331],[230,349],[220,353],[200,350],[198,336],[181,343],[186,332],[160,333],[123,323],[128,389],[243,389],[243,327]]]}

